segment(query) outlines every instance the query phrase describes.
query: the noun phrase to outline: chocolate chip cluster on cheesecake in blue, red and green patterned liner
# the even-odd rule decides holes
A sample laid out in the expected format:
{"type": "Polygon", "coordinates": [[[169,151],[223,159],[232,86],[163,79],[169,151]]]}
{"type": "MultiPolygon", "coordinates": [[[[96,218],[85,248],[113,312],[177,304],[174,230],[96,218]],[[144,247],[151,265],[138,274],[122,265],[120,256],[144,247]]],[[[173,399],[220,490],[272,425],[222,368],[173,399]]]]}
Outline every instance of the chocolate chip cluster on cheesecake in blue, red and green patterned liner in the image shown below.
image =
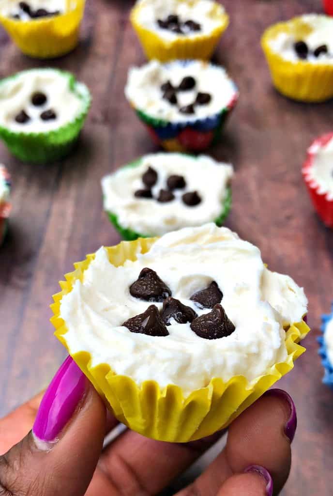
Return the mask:
{"type": "MultiPolygon", "coordinates": [[[[166,81],[166,83],[161,86],[163,98],[171,105],[178,105],[177,93],[179,91],[193,90],[196,84],[197,82],[192,76],[185,76],[177,87],[174,87],[170,81],[166,81]]],[[[202,93],[199,91],[197,92],[197,96],[193,103],[183,107],[178,106],[178,111],[181,114],[194,114],[196,105],[208,105],[211,100],[212,96],[210,93],[202,93]]]]}

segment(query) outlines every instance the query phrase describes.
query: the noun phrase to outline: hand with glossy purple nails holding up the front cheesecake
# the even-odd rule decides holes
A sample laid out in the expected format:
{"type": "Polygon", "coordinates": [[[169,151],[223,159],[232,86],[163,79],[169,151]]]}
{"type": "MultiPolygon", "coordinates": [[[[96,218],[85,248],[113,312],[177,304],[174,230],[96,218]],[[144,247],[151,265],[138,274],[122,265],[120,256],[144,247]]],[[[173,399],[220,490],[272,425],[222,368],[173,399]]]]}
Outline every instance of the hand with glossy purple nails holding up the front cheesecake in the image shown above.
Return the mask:
{"type": "MultiPolygon", "coordinates": [[[[0,456],[0,496],[155,495],[222,435],[180,444],[126,430],[103,450],[116,424],[68,357],[43,399],[0,421],[0,453],[17,442],[0,456]]],[[[268,391],[232,423],[223,451],[177,496],[278,494],[289,474],[295,429],[290,396],[268,391]]]]}

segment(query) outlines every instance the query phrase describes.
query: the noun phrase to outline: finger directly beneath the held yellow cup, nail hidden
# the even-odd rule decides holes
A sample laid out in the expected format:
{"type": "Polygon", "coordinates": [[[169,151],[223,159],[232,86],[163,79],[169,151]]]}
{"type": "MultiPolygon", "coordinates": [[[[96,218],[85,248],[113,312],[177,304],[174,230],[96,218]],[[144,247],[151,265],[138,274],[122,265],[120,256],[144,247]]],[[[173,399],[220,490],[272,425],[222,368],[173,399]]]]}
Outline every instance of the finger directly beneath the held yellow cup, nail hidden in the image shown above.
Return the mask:
{"type": "Polygon", "coordinates": [[[126,496],[156,494],[222,434],[189,443],[170,443],[126,431],[103,453],[87,496],[115,496],[123,487],[126,487],[126,496]]]}

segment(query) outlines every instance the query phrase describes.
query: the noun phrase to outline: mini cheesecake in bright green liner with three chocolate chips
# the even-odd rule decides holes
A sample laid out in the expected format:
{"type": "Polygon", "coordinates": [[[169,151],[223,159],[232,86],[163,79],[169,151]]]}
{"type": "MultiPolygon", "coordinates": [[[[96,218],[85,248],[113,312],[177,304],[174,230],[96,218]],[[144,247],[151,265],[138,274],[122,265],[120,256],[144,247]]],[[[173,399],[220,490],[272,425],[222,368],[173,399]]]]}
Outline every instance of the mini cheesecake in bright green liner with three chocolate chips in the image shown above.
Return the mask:
{"type": "Polygon", "coordinates": [[[89,90],[69,72],[19,72],[0,81],[0,137],[23,160],[57,158],[78,136],[89,105],[89,90]]]}

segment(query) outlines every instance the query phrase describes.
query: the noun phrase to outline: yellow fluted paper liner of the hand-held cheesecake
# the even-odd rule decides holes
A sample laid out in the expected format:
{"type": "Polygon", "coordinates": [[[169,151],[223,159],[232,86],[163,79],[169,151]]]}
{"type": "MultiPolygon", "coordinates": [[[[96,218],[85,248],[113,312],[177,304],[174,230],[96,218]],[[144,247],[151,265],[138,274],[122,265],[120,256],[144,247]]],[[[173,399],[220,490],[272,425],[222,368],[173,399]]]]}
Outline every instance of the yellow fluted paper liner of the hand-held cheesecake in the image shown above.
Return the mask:
{"type": "MultiPolygon", "coordinates": [[[[146,253],[158,238],[122,242],[108,250],[110,262],[116,267],[125,260],[136,260],[137,253],[146,253]]],[[[131,377],[117,375],[108,364],[92,366],[92,356],[82,350],[72,353],[66,341],[67,328],[60,317],[60,302],[69,293],[74,282],[83,281],[83,273],[95,254],[74,264],[75,271],[61,281],[61,292],[54,295],[51,305],[54,316],[51,322],[55,335],[82,372],[93,383],[115,417],[127,427],[147,437],[170,442],[187,442],[213,434],[227,427],[245,408],[250,406],[282,375],[293,368],[293,362],[305,348],[298,342],[310,328],[302,320],[286,329],[285,343],[288,356],[264,375],[248,381],[244,376],[232,377],[227,382],[213,378],[207,387],[197,389],[184,397],[179,386],[169,384],[161,389],[154,380],[137,385],[131,377]]]]}

